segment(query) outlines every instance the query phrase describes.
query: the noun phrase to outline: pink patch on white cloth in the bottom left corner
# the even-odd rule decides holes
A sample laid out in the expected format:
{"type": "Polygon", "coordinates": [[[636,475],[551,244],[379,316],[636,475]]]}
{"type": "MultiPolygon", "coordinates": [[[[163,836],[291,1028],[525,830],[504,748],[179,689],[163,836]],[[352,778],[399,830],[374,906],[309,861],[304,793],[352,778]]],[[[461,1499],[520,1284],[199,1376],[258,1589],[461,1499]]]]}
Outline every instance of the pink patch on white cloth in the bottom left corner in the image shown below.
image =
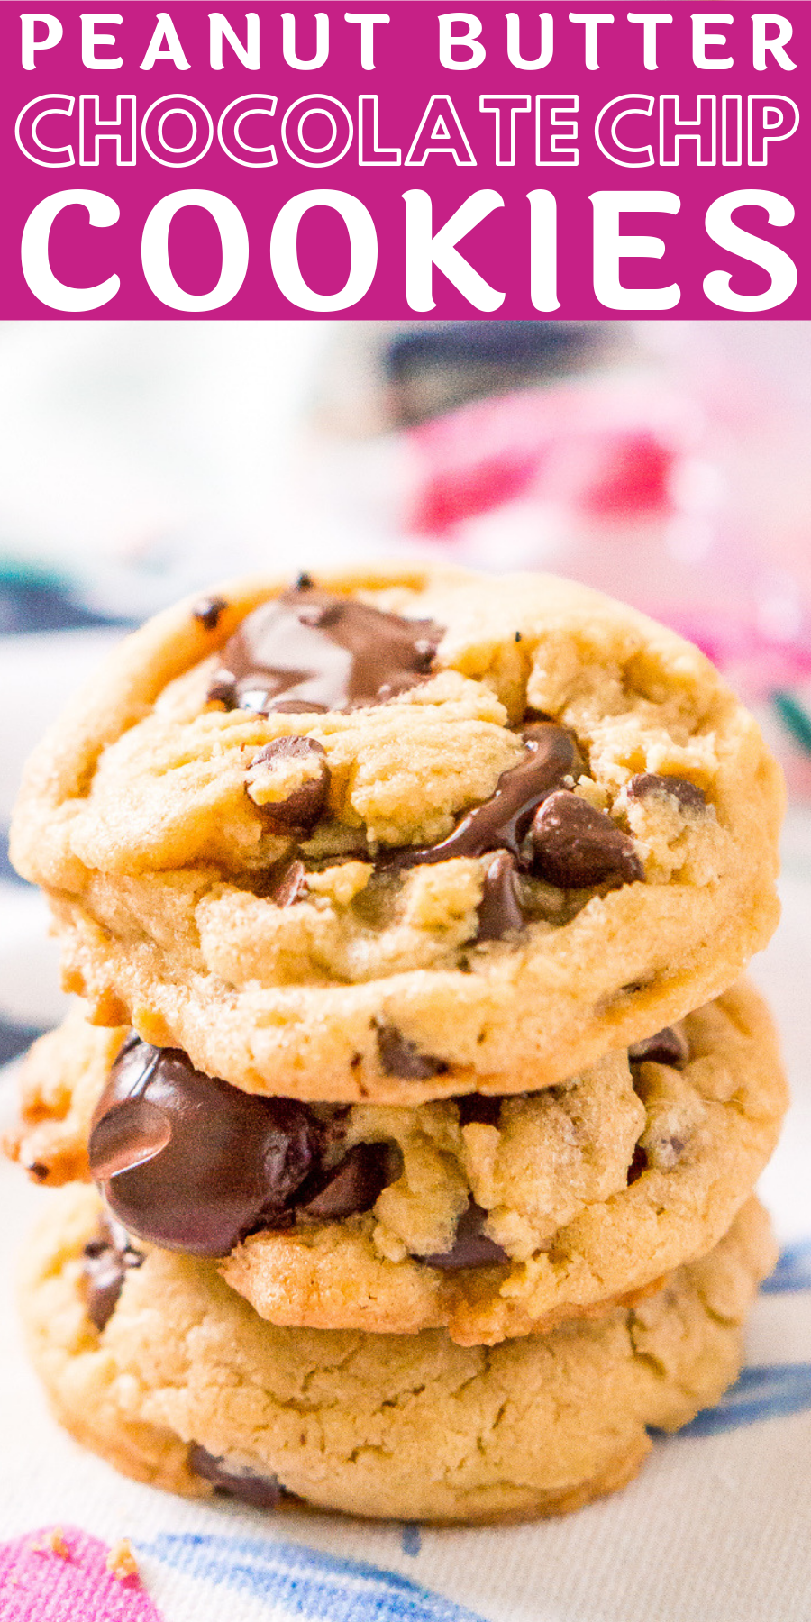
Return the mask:
{"type": "Polygon", "coordinates": [[[79,1526],[23,1533],[0,1544],[3,1622],[164,1622],[138,1577],[107,1570],[107,1546],[79,1526]],[[57,1539],[54,1539],[57,1541],[57,1539]],[[37,1547],[39,1546],[39,1547],[37,1547]]]}

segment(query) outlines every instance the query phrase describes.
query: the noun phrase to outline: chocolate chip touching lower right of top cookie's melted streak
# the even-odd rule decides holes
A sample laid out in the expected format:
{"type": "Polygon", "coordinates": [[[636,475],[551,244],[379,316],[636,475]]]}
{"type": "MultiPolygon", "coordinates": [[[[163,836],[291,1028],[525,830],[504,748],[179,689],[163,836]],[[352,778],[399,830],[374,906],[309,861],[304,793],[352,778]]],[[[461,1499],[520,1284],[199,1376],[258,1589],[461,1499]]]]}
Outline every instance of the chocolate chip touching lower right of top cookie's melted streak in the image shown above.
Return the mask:
{"type": "Polygon", "coordinates": [[[587,800],[558,788],[532,822],[534,871],[560,889],[644,879],[634,842],[587,800]]]}

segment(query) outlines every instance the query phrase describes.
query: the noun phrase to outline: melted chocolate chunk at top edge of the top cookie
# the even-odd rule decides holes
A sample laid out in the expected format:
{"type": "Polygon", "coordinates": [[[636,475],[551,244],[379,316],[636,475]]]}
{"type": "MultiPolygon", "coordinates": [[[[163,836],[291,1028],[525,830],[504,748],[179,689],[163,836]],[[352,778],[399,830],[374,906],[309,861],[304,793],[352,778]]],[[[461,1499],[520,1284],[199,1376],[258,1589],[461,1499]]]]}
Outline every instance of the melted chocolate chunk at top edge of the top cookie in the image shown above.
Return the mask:
{"type": "Polygon", "coordinates": [[[305,584],[242,621],[208,696],[261,715],[386,704],[425,681],[441,637],[431,620],[404,620],[305,584]]]}

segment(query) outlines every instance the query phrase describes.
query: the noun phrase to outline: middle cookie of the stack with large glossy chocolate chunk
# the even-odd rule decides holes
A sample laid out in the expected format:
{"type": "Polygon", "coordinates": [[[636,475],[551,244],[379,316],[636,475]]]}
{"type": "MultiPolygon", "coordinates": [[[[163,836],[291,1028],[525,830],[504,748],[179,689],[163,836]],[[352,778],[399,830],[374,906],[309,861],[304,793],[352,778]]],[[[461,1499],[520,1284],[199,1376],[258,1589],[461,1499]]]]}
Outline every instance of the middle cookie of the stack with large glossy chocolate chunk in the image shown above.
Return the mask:
{"type": "MultiPolygon", "coordinates": [[[[110,1033],[84,1025],[76,1043],[70,1022],[42,1040],[57,1096],[60,1043],[73,1075],[75,1045],[109,1054],[110,1033]]],[[[44,1058],[34,1049],[34,1079],[44,1058]]],[[[92,1174],[130,1233],[225,1257],[227,1281],[274,1324],[441,1325],[461,1345],[605,1311],[709,1251],[787,1103],[770,1017],[746,983],[529,1095],[303,1105],[245,1093],[138,1038],[109,1079],[101,1062],[91,1074],[84,1142],[67,1161],[89,1134],[92,1174]]],[[[23,1160],[49,1131],[26,1077],[23,1160]]]]}

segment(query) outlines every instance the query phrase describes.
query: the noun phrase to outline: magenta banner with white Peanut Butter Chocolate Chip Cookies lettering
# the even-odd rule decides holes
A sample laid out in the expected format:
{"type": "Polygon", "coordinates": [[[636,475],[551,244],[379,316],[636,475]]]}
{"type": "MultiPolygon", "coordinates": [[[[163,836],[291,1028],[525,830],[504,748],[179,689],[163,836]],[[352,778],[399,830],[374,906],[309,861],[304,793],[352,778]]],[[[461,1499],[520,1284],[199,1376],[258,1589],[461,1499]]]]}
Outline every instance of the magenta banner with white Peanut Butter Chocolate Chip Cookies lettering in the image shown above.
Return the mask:
{"type": "Polygon", "coordinates": [[[3,0],[0,315],[808,318],[809,24],[3,0]]]}

